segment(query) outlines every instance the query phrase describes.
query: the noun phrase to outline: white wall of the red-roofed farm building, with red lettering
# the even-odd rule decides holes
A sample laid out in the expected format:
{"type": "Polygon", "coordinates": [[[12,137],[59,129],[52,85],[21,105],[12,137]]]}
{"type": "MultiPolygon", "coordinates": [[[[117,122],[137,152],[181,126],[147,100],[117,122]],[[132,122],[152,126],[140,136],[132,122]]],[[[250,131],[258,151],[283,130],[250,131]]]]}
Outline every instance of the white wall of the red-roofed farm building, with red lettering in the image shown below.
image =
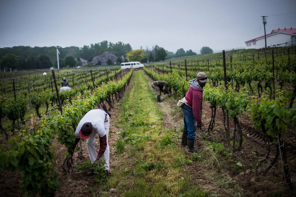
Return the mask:
{"type": "MultiPolygon", "coordinates": [[[[277,44],[286,43],[286,42],[288,42],[288,45],[291,45],[291,41],[292,41],[291,35],[284,34],[284,33],[277,33],[277,34],[266,37],[266,46],[272,46],[272,45],[277,45],[277,44]]],[[[255,42],[250,42],[250,43],[251,43],[251,46],[247,46],[247,43],[246,43],[246,49],[260,49],[265,47],[264,37],[255,42]]],[[[281,46],[285,46],[285,44],[281,46]]]]}

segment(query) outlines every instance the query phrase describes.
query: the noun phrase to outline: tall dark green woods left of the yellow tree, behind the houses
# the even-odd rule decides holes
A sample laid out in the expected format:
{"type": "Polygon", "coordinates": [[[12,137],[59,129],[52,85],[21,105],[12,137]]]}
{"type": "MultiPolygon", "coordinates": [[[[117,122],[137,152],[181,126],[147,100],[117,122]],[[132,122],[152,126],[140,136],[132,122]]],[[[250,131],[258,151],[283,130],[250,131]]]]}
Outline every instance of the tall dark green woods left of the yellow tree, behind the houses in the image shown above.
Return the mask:
{"type": "MultiPolygon", "coordinates": [[[[59,65],[63,67],[73,67],[79,63],[74,60],[74,57],[86,59],[89,62],[94,56],[103,54],[109,51],[115,56],[125,56],[126,53],[131,51],[129,44],[123,42],[112,43],[102,41],[100,43],[91,44],[90,46],[84,45],[79,48],[76,46],[59,47],[59,65]]],[[[30,46],[14,46],[0,48],[0,67],[1,69],[41,69],[57,67],[57,51],[56,47],[30,47],[30,46]]]]}

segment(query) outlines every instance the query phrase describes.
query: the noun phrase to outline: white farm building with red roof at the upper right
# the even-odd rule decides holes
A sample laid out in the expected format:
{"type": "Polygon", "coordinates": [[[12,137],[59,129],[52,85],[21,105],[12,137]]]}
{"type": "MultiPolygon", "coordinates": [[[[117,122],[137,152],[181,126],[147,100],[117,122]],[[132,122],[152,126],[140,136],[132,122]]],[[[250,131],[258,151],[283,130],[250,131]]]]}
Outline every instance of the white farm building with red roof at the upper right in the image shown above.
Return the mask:
{"type": "MultiPolygon", "coordinates": [[[[264,35],[245,41],[247,49],[260,49],[265,47],[264,35]]],[[[289,46],[296,44],[296,28],[274,29],[266,34],[266,46],[289,46]]]]}

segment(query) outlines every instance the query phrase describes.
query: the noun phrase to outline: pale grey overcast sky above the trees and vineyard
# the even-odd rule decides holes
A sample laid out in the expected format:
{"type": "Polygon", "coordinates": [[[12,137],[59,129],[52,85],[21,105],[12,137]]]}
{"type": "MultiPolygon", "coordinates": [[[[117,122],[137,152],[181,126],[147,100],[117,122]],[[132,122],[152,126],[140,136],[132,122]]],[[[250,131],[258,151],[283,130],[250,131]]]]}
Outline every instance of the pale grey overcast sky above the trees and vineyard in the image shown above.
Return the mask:
{"type": "Polygon", "coordinates": [[[0,0],[0,47],[90,45],[104,40],[176,52],[244,47],[277,28],[296,28],[295,0],[0,0]]]}

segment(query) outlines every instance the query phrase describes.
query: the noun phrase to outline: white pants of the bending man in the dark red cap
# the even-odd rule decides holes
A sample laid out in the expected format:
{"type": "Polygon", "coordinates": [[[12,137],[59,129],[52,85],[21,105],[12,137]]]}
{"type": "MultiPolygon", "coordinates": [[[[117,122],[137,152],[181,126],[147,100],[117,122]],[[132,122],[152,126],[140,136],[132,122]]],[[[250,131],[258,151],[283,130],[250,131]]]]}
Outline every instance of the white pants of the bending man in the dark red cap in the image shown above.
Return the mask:
{"type": "MultiPolygon", "coordinates": [[[[104,122],[106,137],[107,137],[107,148],[106,148],[104,154],[102,155],[102,159],[106,159],[105,170],[110,169],[110,166],[109,166],[110,151],[109,151],[109,144],[108,144],[110,117],[108,114],[107,114],[107,117],[108,117],[108,122],[104,122]]],[[[96,132],[93,132],[91,134],[91,136],[88,139],[86,139],[86,145],[87,145],[87,149],[89,150],[89,158],[91,159],[91,163],[94,163],[94,161],[96,160],[96,157],[97,157],[96,147],[94,146],[95,141],[96,141],[96,132]]]]}

